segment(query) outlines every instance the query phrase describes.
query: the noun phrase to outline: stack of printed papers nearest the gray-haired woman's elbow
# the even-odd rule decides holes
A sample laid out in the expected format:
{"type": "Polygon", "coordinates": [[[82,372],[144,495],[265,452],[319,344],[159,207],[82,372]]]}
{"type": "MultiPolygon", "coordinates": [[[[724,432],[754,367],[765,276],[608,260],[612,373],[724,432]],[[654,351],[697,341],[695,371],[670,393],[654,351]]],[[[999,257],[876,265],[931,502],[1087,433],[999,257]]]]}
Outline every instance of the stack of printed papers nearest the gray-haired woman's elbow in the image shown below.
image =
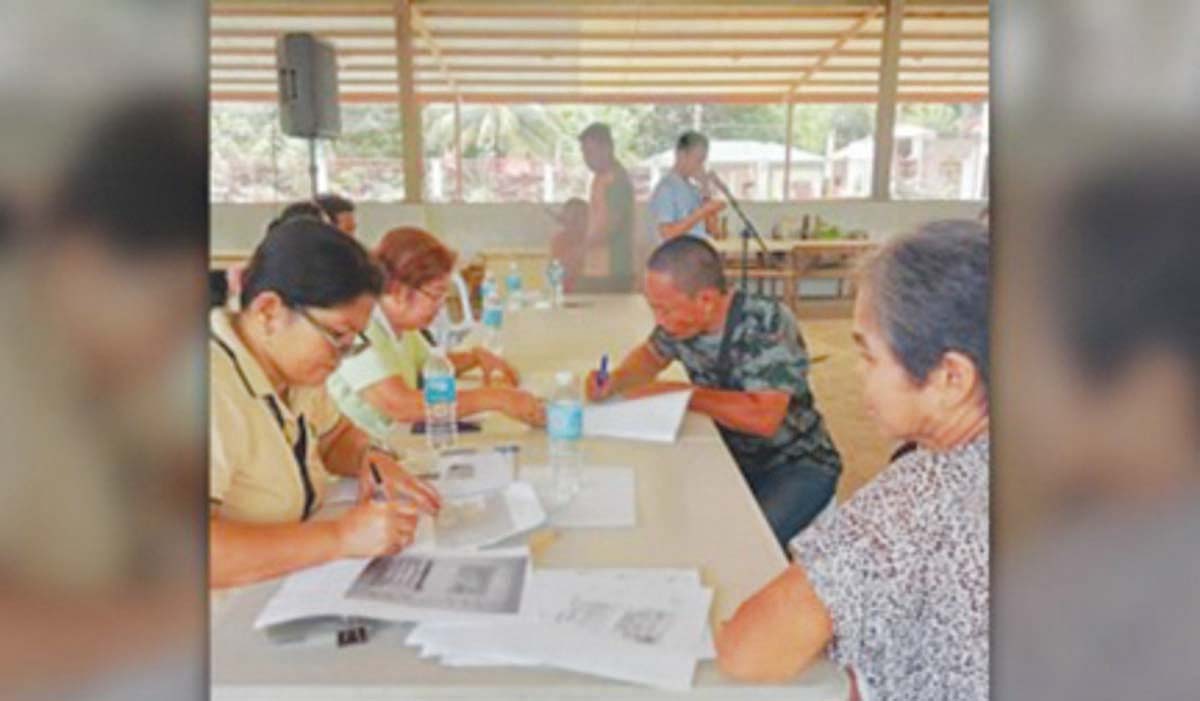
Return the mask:
{"type": "Polygon", "coordinates": [[[545,665],[686,690],[712,657],[695,570],[540,570],[516,619],[432,622],[408,643],[451,666],[545,665]]]}

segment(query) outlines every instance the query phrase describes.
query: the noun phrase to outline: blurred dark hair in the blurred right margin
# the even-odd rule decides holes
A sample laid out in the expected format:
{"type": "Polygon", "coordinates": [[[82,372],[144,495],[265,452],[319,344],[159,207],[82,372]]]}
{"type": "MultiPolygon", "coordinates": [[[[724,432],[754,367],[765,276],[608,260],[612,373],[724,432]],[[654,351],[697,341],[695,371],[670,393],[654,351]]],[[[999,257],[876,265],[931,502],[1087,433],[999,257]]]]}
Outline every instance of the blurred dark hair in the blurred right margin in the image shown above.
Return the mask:
{"type": "Polygon", "coordinates": [[[1064,198],[1051,241],[1051,305],[1070,353],[1099,383],[1158,348],[1200,391],[1200,161],[1147,156],[1064,198]]]}

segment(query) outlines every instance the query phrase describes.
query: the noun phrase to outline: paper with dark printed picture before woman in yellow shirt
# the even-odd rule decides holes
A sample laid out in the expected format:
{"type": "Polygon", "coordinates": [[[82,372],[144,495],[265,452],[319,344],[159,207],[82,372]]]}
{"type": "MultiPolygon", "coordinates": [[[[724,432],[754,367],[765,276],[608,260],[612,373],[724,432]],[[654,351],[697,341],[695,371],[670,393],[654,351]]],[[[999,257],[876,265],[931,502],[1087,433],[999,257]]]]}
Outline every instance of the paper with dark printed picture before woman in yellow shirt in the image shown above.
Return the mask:
{"type": "Polygon", "coordinates": [[[515,618],[527,606],[529,567],[527,547],[338,559],[283,580],[254,629],[329,616],[394,622],[515,618]]]}

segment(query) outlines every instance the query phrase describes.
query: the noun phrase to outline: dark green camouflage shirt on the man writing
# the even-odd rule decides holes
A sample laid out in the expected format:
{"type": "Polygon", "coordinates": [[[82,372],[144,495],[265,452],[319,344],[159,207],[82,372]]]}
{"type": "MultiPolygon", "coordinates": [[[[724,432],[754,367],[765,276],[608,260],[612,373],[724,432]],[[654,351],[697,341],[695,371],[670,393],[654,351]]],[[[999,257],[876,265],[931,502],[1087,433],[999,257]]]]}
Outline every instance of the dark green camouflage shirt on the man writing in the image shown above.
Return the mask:
{"type": "MultiPolygon", "coordinates": [[[[736,294],[742,298],[742,313],[728,330],[730,367],[726,372],[718,367],[724,332],[679,341],[659,326],[650,335],[652,348],[665,359],[682,363],[697,387],[776,390],[792,395],[787,417],[770,438],[718,425],[743,473],[756,474],[780,465],[803,462],[833,475],[840,474],[841,457],[809,389],[809,354],[794,317],[773,299],[736,294]]],[[[737,304],[734,299],[734,306],[737,304]]]]}

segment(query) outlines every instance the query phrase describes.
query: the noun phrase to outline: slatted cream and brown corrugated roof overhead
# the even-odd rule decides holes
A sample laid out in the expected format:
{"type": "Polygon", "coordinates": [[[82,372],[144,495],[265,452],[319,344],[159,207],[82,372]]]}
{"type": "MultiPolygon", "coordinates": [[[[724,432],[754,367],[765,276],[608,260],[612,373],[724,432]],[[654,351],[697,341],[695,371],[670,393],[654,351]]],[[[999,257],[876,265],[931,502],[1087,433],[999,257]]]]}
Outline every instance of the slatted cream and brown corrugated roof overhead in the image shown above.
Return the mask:
{"type": "MultiPolygon", "coordinates": [[[[402,2],[211,2],[216,100],[275,100],[275,40],[313,31],[338,52],[343,101],[398,98],[402,2]]],[[[875,101],[877,2],[412,2],[421,102],[875,101]]],[[[908,0],[901,101],[988,92],[988,4],[908,0]]]]}

